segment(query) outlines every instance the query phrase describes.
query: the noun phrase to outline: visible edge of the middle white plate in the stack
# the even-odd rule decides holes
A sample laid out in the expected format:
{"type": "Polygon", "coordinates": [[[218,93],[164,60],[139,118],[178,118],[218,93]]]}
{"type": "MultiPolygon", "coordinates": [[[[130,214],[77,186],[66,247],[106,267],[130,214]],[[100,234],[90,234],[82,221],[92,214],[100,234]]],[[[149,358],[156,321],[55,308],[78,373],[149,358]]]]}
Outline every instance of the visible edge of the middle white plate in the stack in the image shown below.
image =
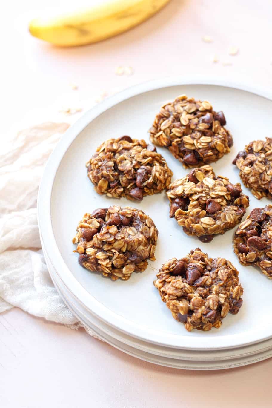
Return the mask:
{"type": "MultiPolygon", "coordinates": [[[[234,360],[248,357],[249,361],[252,361],[253,355],[259,355],[260,353],[268,352],[268,357],[270,357],[270,350],[272,349],[272,339],[262,341],[261,343],[252,344],[250,346],[232,348],[226,350],[207,350],[207,351],[195,351],[195,350],[179,350],[176,348],[170,349],[162,346],[157,346],[154,344],[146,343],[144,341],[129,337],[122,332],[114,329],[113,327],[103,323],[100,319],[97,319],[95,316],[88,313],[88,310],[84,309],[82,305],[77,302],[77,299],[69,293],[61,279],[57,276],[57,273],[54,271],[51,262],[48,259],[46,251],[44,250],[44,255],[46,258],[46,263],[49,268],[51,278],[59,290],[60,295],[63,297],[66,304],[69,304],[69,307],[73,313],[77,314],[80,317],[81,321],[84,324],[88,324],[89,327],[98,329],[100,333],[108,335],[111,338],[129,346],[132,348],[137,348],[140,351],[144,351],[148,354],[155,354],[160,357],[167,357],[171,359],[180,359],[188,361],[222,361],[222,360],[234,360]]],[[[245,360],[246,361],[246,360],[245,360]]],[[[225,363],[221,363],[222,366],[225,366],[225,363]]]]}

